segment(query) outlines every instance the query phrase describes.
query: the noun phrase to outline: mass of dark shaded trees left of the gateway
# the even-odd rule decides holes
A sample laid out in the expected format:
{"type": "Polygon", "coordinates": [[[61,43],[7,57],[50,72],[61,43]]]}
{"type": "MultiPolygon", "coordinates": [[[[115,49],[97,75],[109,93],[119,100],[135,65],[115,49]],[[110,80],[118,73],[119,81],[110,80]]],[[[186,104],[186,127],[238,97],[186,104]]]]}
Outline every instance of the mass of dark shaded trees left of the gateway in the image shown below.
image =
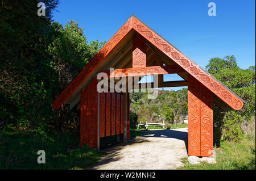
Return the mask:
{"type": "Polygon", "coordinates": [[[28,131],[79,132],[79,113],[67,106],[52,110],[52,101],[81,71],[105,42],[88,43],[75,21],[52,22],[58,0],[38,16],[38,1],[26,6],[1,1],[0,123],[28,131]]]}

